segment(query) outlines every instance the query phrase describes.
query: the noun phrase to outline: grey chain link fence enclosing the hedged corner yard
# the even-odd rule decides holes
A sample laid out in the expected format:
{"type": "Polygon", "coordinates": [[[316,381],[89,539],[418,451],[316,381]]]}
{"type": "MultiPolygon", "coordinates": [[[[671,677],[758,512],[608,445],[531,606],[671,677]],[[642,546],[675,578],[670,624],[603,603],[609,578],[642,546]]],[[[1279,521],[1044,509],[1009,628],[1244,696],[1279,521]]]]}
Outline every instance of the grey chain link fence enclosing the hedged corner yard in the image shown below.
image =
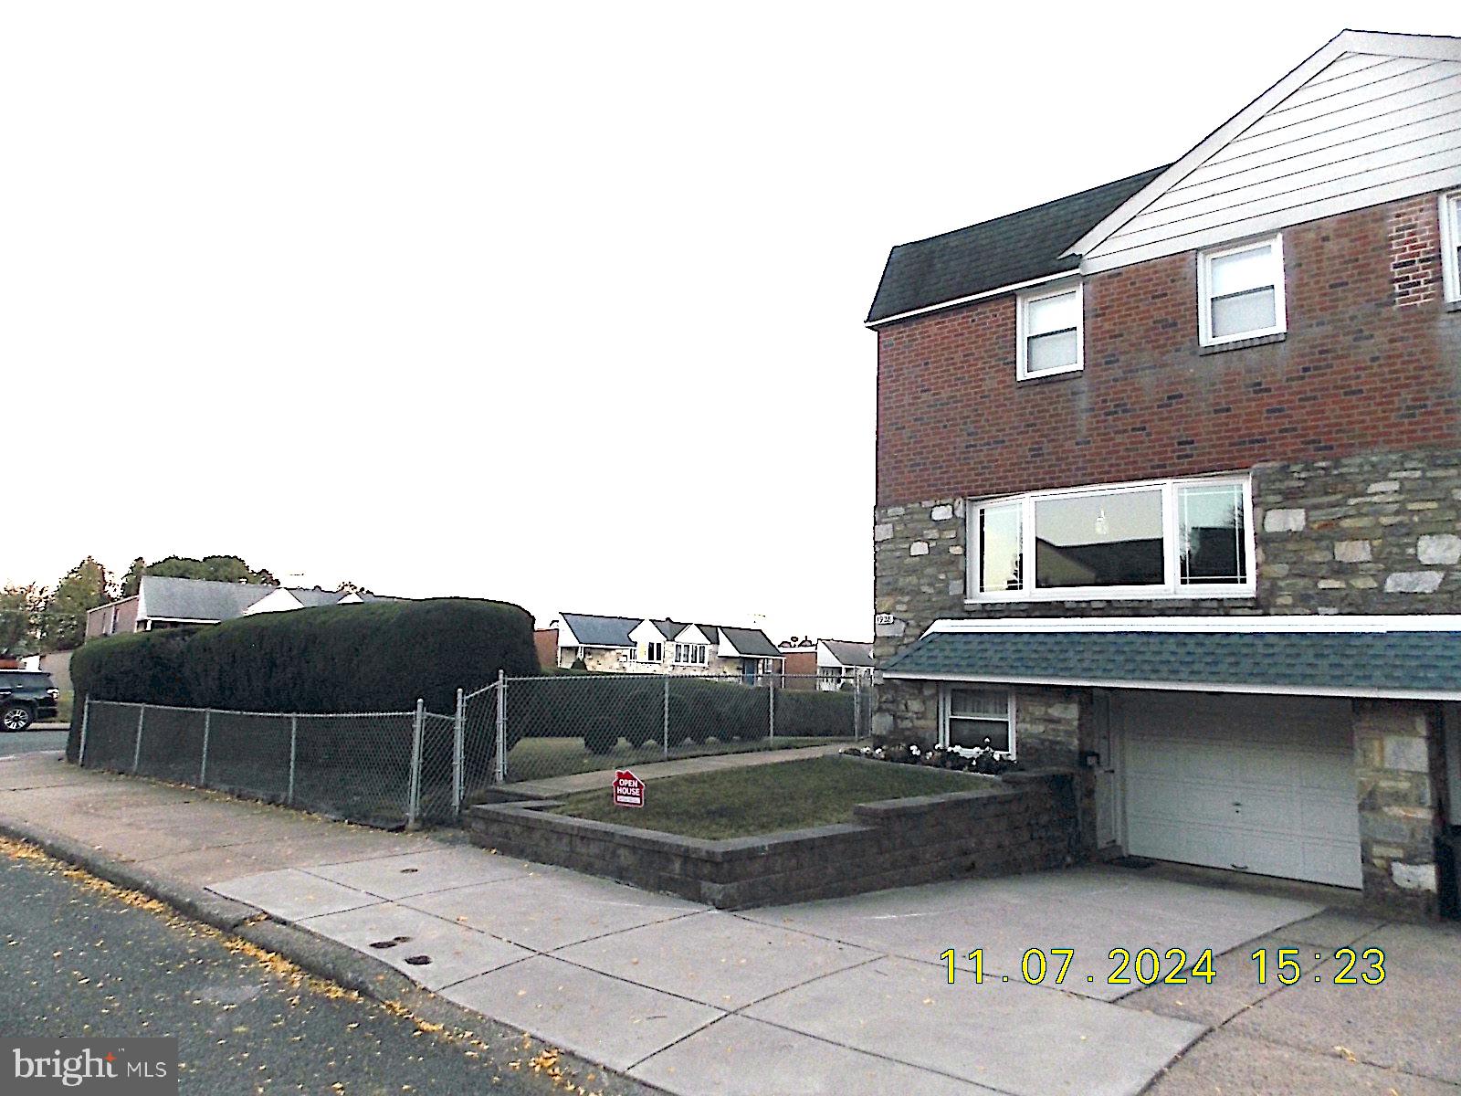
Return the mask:
{"type": "Polygon", "coordinates": [[[88,700],[80,764],[371,826],[451,823],[494,785],[863,738],[872,690],[815,680],[555,674],[456,712],[288,715],[88,700]]]}

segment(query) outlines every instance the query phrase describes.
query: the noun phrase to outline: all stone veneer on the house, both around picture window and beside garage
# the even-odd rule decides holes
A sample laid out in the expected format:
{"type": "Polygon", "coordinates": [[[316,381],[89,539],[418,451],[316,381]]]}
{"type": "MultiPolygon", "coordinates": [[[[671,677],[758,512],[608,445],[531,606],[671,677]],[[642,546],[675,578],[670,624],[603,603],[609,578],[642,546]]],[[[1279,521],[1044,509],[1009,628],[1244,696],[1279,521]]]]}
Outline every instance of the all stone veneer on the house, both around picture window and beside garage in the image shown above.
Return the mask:
{"type": "MultiPolygon", "coordinates": [[[[966,605],[964,500],[882,507],[874,526],[882,621],[874,658],[882,662],[932,621],[957,617],[1461,612],[1461,450],[1268,463],[1252,475],[1254,598],[966,605]]],[[[1017,688],[1021,761],[1075,766],[1093,748],[1090,697],[1017,688]]],[[[934,741],[938,687],[880,684],[872,726],[891,741],[934,741]]],[[[1430,915],[1446,779],[1439,707],[1357,701],[1354,739],[1366,900],[1430,915]]],[[[1093,779],[1080,775],[1077,789],[1090,848],[1093,779]]]]}

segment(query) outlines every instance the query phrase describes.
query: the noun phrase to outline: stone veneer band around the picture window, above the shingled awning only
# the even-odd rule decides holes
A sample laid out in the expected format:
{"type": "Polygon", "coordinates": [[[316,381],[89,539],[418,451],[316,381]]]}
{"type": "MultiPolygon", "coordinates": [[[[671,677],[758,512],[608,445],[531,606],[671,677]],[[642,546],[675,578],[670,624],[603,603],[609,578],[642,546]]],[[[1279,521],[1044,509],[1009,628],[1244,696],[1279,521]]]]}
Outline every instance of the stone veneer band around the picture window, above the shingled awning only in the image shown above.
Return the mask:
{"type": "Polygon", "coordinates": [[[966,605],[964,500],[881,507],[874,658],[948,617],[1461,612],[1461,450],[1258,465],[1252,476],[1254,598],[966,605]]]}

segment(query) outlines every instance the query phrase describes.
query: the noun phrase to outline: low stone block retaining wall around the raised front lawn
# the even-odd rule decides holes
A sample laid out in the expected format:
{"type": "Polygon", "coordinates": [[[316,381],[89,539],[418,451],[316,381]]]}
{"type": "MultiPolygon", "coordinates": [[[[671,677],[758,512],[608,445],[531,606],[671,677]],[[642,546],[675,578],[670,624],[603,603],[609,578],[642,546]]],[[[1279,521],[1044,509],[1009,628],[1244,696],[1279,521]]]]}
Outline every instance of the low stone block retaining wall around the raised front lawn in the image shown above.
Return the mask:
{"type": "Polygon", "coordinates": [[[555,799],[473,807],[468,830],[482,848],[741,909],[1072,864],[1074,776],[970,776],[967,792],[862,804],[850,823],[729,840],[551,814],[555,799]]]}

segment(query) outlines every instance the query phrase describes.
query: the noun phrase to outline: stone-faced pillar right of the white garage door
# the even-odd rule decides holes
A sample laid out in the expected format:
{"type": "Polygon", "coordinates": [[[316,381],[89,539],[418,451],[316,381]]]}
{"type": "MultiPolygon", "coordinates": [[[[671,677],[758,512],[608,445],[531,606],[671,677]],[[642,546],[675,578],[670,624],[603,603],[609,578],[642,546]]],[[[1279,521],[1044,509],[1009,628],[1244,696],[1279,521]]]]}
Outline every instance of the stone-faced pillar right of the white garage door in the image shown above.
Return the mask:
{"type": "Polygon", "coordinates": [[[1446,798],[1441,706],[1356,701],[1354,776],[1365,900],[1435,916],[1438,805],[1446,798]]]}

